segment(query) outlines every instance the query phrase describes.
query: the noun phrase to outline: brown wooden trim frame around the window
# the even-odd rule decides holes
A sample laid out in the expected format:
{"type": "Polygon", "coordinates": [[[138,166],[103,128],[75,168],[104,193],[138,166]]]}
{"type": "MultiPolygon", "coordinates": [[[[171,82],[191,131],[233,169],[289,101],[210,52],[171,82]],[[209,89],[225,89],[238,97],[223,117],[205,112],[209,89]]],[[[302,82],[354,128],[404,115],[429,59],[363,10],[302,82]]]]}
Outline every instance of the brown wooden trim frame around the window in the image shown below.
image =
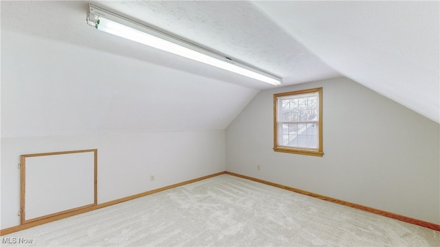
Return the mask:
{"type": "Polygon", "coordinates": [[[310,156],[320,156],[324,155],[322,150],[322,87],[316,89],[305,89],[300,91],[292,91],[286,93],[276,93],[274,94],[274,151],[275,152],[285,152],[290,154],[303,154],[310,156]],[[319,121],[318,121],[318,148],[317,149],[307,149],[307,148],[293,148],[278,145],[278,124],[277,124],[277,115],[278,115],[278,97],[284,97],[289,95],[300,95],[305,93],[318,93],[319,99],[319,121]]]}

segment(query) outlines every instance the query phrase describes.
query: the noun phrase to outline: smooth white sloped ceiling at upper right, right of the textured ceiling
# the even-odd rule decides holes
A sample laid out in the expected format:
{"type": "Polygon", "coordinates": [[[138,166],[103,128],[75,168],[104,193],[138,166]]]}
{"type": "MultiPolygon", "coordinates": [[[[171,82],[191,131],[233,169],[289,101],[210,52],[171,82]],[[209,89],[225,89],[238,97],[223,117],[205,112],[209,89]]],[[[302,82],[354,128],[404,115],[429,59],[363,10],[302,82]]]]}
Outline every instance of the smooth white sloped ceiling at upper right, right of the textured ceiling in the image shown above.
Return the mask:
{"type": "Polygon", "coordinates": [[[439,1],[252,3],[340,73],[439,123],[439,1]]]}

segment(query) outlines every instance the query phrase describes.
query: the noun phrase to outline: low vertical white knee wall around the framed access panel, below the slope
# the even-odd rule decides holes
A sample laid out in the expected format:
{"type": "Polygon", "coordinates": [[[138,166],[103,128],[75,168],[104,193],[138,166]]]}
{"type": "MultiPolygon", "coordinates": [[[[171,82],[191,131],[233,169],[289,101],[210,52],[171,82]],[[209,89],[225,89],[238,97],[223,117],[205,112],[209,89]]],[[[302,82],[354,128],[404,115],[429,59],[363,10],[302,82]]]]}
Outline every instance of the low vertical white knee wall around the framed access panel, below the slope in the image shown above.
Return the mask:
{"type": "Polygon", "coordinates": [[[224,130],[3,137],[0,227],[20,224],[21,154],[90,148],[98,148],[98,203],[225,170],[224,130]]]}

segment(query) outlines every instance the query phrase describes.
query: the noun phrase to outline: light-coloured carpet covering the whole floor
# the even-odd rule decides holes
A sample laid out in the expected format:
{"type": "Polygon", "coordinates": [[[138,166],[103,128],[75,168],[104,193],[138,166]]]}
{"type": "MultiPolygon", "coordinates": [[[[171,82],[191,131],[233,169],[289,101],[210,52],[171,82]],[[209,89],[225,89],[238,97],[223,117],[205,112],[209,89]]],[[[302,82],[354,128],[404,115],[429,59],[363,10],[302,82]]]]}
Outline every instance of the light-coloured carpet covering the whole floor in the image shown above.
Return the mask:
{"type": "Polygon", "coordinates": [[[440,245],[438,231],[229,175],[5,237],[32,239],[23,246],[440,245]]]}

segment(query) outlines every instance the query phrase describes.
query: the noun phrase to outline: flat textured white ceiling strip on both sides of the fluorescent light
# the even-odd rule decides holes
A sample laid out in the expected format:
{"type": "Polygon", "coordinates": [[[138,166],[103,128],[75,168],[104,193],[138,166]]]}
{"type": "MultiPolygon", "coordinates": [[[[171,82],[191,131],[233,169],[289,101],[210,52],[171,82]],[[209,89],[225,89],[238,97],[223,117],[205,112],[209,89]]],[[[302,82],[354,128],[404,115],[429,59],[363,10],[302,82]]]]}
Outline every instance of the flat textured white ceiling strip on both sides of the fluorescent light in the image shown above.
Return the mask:
{"type": "MultiPolygon", "coordinates": [[[[92,1],[198,45],[270,71],[284,84],[342,76],[247,1],[92,1]]],[[[87,1],[2,2],[2,29],[30,32],[254,89],[272,86],[85,25],[87,1]],[[203,69],[201,69],[201,67],[203,69]],[[203,71],[203,74],[202,72],[203,71]]]]}

